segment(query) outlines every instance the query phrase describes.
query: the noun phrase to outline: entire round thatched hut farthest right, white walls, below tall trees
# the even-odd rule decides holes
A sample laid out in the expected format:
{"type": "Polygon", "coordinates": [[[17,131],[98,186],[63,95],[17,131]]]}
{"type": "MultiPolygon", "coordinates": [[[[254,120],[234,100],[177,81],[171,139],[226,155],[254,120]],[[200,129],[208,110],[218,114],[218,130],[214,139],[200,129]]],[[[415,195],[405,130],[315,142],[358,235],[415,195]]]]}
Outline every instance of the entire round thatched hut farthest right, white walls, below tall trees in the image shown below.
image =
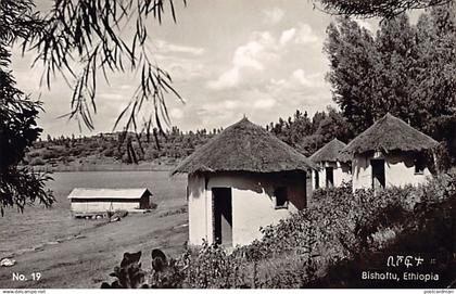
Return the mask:
{"type": "Polygon", "coordinates": [[[384,115],[342,151],[352,159],[353,190],[417,184],[431,175],[438,142],[391,114],[384,115]]]}

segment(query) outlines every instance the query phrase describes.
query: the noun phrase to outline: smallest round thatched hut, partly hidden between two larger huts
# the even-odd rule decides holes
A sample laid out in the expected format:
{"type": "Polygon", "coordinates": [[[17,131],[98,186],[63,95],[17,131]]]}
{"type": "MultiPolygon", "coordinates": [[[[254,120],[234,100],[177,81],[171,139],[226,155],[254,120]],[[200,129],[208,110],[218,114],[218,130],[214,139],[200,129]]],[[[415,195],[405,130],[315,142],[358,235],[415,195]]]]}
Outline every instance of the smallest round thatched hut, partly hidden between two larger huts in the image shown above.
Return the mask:
{"type": "Polygon", "coordinates": [[[339,187],[352,180],[350,158],[340,154],[345,146],[344,142],[335,138],[309,157],[318,166],[313,171],[314,189],[339,187]]]}

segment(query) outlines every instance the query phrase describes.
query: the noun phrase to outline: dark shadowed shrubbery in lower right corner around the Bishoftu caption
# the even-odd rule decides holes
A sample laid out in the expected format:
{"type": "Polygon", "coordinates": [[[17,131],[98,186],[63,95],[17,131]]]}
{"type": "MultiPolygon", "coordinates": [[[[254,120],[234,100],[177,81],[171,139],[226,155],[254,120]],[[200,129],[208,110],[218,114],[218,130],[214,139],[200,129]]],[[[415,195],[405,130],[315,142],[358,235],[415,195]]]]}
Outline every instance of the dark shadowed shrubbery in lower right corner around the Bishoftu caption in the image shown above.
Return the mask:
{"type": "MultiPolygon", "coordinates": [[[[416,201],[411,209],[407,209],[396,226],[379,229],[379,232],[389,232],[390,237],[382,246],[370,250],[364,255],[352,259],[333,263],[327,267],[319,279],[313,281],[311,286],[325,287],[446,287],[454,283],[456,230],[456,176],[442,175],[429,183],[414,190],[416,201]],[[366,282],[359,279],[359,272],[369,265],[383,264],[390,255],[396,253],[419,255],[425,257],[423,265],[414,268],[420,273],[439,273],[439,281],[395,281],[366,282]],[[434,264],[431,258],[436,259],[434,264]]],[[[380,243],[380,242],[379,242],[380,243]]],[[[389,269],[391,270],[391,269],[389,269]]],[[[405,267],[401,270],[409,271],[405,267]]]]}

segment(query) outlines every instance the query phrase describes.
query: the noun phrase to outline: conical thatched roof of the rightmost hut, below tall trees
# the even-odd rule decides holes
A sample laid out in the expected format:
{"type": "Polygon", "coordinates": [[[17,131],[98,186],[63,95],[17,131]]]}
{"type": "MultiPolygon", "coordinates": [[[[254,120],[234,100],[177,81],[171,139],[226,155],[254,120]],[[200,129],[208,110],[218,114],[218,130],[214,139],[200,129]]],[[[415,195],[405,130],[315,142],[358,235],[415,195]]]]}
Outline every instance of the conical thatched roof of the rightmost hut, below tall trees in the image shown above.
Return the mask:
{"type": "Polygon", "coordinates": [[[423,151],[436,144],[438,142],[431,137],[388,113],[353,139],[342,154],[367,151],[423,151]]]}

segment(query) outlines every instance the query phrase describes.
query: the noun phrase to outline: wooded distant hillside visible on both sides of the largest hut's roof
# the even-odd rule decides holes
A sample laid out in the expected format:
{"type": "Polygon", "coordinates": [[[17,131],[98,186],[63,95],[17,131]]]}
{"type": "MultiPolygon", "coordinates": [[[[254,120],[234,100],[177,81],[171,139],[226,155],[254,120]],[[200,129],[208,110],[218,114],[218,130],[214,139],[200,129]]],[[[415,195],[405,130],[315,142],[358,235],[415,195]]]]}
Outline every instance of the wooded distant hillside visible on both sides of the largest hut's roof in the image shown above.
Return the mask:
{"type": "MultiPolygon", "coordinates": [[[[333,108],[309,117],[296,111],[287,119],[279,118],[266,129],[295,148],[312,155],[333,138],[346,142],[353,133],[341,114],[333,108]]],[[[166,169],[190,155],[223,129],[182,132],[173,127],[166,133],[114,132],[92,137],[75,136],[39,140],[24,164],[51,170],[166,169]],[[137,163],[137,165],[128,165],[137,163]]]]}

